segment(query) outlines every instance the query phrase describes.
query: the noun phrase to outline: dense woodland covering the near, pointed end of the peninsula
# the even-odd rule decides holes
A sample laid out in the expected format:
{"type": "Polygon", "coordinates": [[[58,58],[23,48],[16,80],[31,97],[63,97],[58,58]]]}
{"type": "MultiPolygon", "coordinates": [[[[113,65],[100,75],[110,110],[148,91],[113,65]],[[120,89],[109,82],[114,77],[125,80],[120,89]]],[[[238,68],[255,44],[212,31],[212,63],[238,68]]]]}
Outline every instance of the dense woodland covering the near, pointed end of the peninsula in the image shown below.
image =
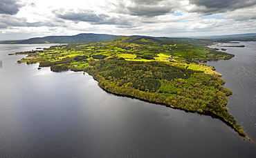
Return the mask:
{"type": "Polygon", "coordinates": [[[206,74],[210,68],[205,65],[193,68],[188,63],[118,60],[89,61],[89,65],[85,71],[108,92],[191,112],[210,112],[245,136],[225,107],[232,91],[221,86],[225,81],[217,74],[206,74]]]}

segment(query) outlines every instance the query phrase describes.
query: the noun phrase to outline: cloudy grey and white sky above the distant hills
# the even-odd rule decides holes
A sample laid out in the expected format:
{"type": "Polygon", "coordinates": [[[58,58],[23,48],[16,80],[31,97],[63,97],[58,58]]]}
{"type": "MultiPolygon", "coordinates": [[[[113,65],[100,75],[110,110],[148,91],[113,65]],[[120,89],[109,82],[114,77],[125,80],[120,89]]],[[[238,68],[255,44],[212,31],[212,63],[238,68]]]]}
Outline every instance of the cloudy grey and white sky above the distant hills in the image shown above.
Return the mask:
{"type": "Polygon", "coordinates": [[[256,0],[0,0],[0,41],[80,33],[256,33],[256,0]]]}

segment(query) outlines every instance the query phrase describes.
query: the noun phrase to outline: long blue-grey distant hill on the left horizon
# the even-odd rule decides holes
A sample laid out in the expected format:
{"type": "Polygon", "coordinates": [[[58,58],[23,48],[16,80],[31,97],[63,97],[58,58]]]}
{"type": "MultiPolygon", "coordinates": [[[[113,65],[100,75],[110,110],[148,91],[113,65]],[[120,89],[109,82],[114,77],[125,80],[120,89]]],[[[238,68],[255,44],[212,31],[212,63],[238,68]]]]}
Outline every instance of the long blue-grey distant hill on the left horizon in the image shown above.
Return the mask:
{"type": "Polygon", "coordinates": [[[33,43],[86,43],[114,39],[118,36],[111,34],[77,34],[74,36],[35,37],[18,41],[0,41],[0,44],[33,44],[33,43]]]}

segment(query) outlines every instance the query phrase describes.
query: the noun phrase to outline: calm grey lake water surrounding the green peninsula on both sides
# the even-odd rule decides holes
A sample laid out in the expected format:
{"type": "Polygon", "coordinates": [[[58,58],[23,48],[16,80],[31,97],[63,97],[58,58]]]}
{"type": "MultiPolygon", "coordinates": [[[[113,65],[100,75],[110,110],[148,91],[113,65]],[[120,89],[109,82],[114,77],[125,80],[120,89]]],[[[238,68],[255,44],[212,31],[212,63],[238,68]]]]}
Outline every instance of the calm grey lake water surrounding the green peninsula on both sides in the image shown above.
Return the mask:
{"type": "MultiPolygon", "coordinates": [[[[256,47],[243,44],[208,64],[234,92],[228,112],[256,139],[256,47]]],[[[256,145],[219,119],[111,95],[83,72],[8,55],[51,45],[0,45],[0,157],[255,157],[256,145]]]]}

